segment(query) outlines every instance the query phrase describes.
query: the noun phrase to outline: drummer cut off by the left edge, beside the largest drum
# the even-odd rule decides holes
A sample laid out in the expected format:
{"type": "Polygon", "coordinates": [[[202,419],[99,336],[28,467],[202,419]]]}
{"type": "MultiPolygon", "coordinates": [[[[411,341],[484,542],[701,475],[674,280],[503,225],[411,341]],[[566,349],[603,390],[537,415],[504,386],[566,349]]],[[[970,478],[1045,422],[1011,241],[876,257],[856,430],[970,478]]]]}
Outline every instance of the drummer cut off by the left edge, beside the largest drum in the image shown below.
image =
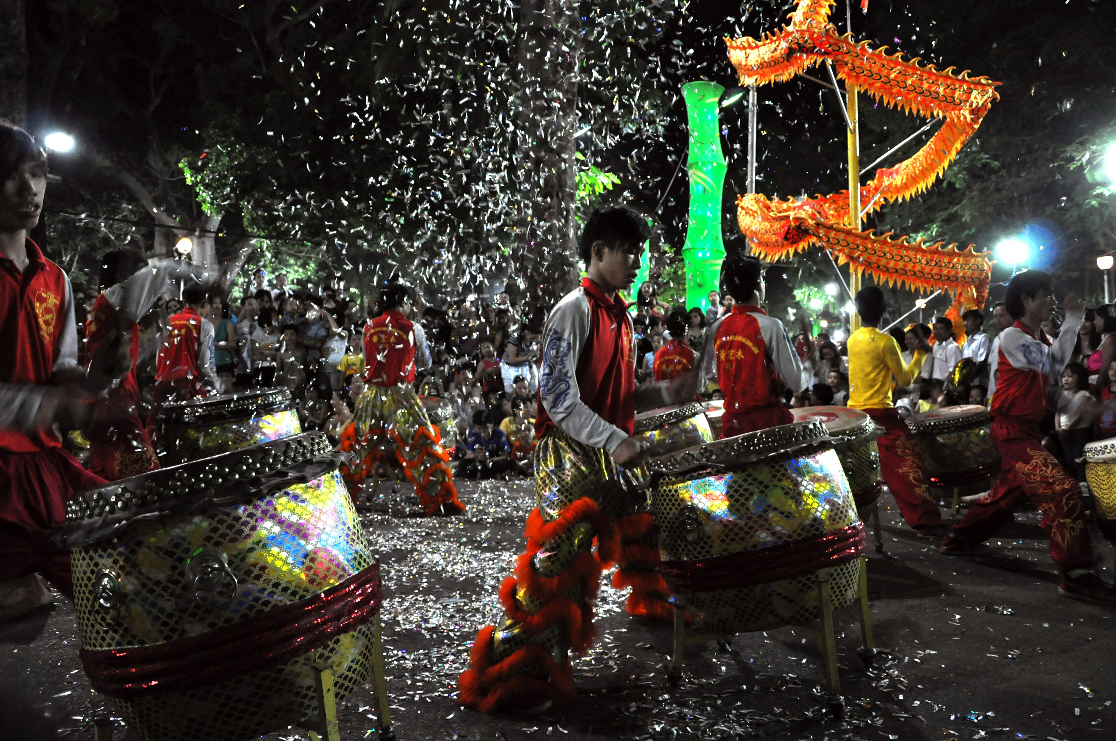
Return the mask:
{"type": "MultiPolygon", "coordinates": [[[[87,375],[77,363],[69,277],[27,238],[42,211],[47,158],[21,128],[0,123],[0,591],[42,574],[73,594],[69,552],[50,530],[75,491],[105,483],[62,450],[51,425],[77,426],[85,400],[126,371],[105,343],[87,375]],[[100,369],[105,368],[104,372],[100,369]]],[[[11,614],[9,614],[9,617],[11,614]]]]}

